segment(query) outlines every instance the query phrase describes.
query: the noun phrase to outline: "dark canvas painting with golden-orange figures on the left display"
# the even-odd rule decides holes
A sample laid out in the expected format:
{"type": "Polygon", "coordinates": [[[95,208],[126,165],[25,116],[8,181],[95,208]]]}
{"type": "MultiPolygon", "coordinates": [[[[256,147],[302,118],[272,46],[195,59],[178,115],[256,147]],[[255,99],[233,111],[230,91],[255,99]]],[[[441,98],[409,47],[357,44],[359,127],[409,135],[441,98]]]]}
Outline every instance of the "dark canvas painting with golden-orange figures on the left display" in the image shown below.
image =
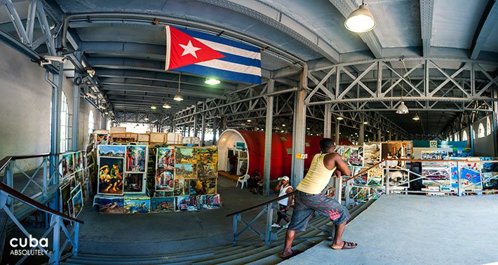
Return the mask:
{"type": "Polygon", "coordinates": [[[123,158],[99,158],[97,193],[123,195],[123,158]]]}

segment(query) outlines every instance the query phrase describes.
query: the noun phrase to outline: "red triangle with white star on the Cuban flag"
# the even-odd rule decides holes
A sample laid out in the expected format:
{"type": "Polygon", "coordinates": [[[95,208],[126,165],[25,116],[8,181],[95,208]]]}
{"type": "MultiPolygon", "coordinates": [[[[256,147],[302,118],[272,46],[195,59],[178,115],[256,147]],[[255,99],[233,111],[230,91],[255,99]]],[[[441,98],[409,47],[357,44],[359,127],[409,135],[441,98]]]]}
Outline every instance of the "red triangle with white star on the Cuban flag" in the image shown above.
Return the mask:
{"type": "Polygon", "coordinates": [[[222,57],[224,55],[180,29],[166,26],[166,71],[222,57]]]}

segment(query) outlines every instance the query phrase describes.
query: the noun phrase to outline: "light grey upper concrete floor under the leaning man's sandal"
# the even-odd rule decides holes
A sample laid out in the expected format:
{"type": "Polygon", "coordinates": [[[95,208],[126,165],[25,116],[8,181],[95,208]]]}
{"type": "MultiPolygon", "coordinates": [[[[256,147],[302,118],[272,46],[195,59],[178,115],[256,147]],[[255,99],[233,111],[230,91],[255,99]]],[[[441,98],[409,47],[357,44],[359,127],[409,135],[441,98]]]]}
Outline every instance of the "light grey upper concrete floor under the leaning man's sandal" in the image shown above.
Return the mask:
{"type": "Polygon", "coordinates": [[[344,240],[330,241],[282,264],[487,264],[498,261],[498,195],[382,196],[356,217],[344,240]]]}

